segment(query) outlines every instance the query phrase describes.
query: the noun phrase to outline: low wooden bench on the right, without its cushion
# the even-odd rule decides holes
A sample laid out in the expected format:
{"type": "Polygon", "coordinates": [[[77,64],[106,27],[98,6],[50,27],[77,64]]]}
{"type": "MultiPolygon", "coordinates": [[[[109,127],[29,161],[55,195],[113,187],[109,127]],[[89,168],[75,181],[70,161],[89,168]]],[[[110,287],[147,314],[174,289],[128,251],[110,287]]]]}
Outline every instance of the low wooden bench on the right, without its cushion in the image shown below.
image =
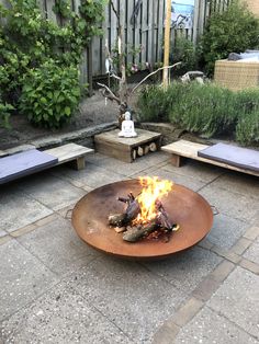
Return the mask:
{"type": "Polygon", "coordinates": [[[198,152],[200,150],[203,150],[205,148],[209,148],[210,146],[202,145],[202,144],[195,144],[191,141],[185,141],[185,140],[179,140],[170,145],[166,145],[161,147],[161,150],[168,152],[171,154],[171,162],[174,167],[179,168],[181,167],[182,160],[184,158],[189,159],[194,159],[198,161],[211,163],[213,165],[217,165],[221,168],[243,172],[243,173],[248,173],[251,175],[257,175],[259,176],[259,172],[252,171],[252,170],[247,170],[244,168],[238,168],[235,165],[230,165],[228,163],[224,163],[221,161],[212,160],[212,159],[206,159],[198,156],[198,152]]]}

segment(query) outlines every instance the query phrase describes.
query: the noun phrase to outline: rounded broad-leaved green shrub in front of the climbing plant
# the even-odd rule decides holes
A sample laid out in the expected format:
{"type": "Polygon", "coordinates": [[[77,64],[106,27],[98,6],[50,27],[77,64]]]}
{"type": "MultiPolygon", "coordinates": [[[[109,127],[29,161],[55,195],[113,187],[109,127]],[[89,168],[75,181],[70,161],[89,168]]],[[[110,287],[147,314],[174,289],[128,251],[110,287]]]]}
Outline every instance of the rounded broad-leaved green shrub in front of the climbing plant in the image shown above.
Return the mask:
{"type": "Polygon", "coordinates": [[[78,107],[79,72],[54,61],[29,71],[20,98],[20,111],[37,125],[58,128],[78,107]]]}

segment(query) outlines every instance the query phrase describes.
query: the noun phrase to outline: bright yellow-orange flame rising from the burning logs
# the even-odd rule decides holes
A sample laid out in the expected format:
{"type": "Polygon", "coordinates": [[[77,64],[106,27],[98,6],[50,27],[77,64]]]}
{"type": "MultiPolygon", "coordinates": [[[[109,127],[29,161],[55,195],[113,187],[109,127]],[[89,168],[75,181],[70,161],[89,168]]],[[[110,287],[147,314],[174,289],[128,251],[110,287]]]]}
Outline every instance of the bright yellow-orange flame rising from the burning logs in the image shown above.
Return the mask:
{"type": "Polygon", "coordinates": [[[167,180],[159,180],[158,176],[139,176],[139,182],[143,190],[137,196],[140,214],[137,216],[136,222],[146,223],[156,218],[156,203],[172,190],[173,183],[167,180]]]}

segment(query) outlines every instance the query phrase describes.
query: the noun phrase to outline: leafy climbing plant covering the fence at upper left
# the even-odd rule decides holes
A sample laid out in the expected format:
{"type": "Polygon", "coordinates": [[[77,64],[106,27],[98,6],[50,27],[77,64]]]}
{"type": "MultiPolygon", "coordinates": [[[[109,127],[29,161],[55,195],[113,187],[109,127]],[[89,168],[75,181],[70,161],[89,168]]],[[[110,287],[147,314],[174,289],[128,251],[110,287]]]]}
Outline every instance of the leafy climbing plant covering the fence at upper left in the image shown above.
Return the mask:
{"type": "MultiPolygon", "coordinates": [[[[101,32],[103,4],[104,0],[82,0],[77,13],[70,8],[70,1],[56,0],[54,11],[57,14],[57,23],[43,18],[37,0],[9,0],[8,7],[0,4],[0,18],[4,22],[4,25],[0,26],[0,89],[3,103],[10,103],[14,111],[23,108],[24,104],[33,104],[32,94],[26,93],[25,89],[30,87],[30,82],[31,87],[40,82],[40,76],[47,74],[47,69],[53,80],[55,78],[50,70],[57,72],[57,78],[64,70],[63,78],[68,79],[64,80],[63,87],[67,82],[71,90],[78,89],[78,72],[74,73],[76,84],[72,84],[71,70],[79,70],[83,49],[91,37],[101,32]],[[26,94],[30,96],[27,102],[26,94]]],[[[59,84],[60,79],[55,82],[59,84]]],[[[50,84],[45,84],[43,90],[54,93],[56,89],[53,85],[50,90],[50,84]]],[[[41,99],[48,96],[41,93],[41,99]]],[[[75,99],[79,102],[78,96],[75,99]]],[[[69,108],[72,112],[74,105],[69,108]]],[[[33,111],[34,106],[30,113],[33,111]]],[[[69,116],[68,110],[66,112],[69,116]]],[[[58,118],[54,121],[50,114],[46,114],[44,121],[40,117],[38,113],[32,115],[33,122],[38,125],[47,125],[47,117],[50,121],[49,127],[61,125],[64,122],[58,118]]]]}

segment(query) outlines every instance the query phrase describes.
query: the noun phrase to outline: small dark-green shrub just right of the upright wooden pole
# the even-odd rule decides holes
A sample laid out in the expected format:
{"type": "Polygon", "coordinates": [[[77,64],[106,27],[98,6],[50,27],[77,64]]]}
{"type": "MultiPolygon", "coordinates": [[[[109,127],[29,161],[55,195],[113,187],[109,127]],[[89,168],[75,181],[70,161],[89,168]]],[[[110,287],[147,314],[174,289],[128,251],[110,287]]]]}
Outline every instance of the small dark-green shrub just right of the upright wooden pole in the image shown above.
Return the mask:
{"type": "Polygon", "coordinates": [[[178,72],[185,73],[196,68],[198,59],[194,44],[184,37],[177,37],[174,46],[172,46],[170,51],[170,64],[180,61],[181,65],[177,69],[178,72]]]}

